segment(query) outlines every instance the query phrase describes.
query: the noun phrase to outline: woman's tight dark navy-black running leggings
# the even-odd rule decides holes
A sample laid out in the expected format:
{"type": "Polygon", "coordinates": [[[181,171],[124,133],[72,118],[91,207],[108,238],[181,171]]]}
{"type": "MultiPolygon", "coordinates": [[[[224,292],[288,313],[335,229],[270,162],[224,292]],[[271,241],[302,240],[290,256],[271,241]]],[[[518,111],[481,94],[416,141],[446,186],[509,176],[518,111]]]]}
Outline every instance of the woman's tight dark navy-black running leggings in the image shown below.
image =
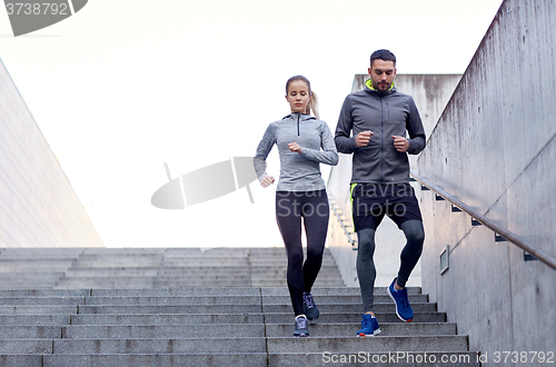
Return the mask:
{"type": "Polygon", "coordinates": [[[287,281],[294,313],[304,314],[304,291],[310,292],[322,264],[328,231],[326,190],[276,191],[276,220],[288,256],[287,281]],[[304,264],[301,217],[307,235],[307,260],[304,264]]]}

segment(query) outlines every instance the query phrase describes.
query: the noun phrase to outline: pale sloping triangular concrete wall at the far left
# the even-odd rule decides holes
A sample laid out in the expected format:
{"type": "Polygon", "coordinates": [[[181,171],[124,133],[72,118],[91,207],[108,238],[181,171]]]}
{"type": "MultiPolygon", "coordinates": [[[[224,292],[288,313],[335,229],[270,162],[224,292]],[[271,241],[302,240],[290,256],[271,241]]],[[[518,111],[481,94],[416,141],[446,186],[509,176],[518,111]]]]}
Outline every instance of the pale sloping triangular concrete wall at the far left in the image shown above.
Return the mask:
{"type": "Polygon", "coordinates": [[[99,246],[100,237],[0,61],[0,247],[99,246]]]}

